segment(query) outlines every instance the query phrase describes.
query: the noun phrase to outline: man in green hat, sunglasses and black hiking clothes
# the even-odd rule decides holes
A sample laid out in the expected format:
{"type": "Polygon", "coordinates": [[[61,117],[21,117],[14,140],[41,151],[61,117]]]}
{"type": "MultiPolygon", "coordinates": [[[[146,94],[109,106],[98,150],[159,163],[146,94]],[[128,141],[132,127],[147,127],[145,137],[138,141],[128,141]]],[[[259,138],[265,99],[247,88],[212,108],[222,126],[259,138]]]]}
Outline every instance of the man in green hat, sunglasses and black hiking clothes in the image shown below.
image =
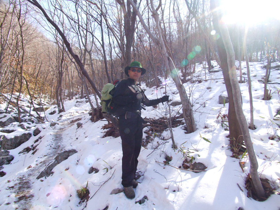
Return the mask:
{"type": "Polygon", "coordinates": [[[127,198],[134,198],[133,188],[136,188],[138,182],[135,180],[137,170],[138,156],[141,150],[141,141],[143,137],[141,118],[141,104],[146,106],[157,105],[160,102],[169,100],[165,95],[159,99],[149,100],[143,91],[137,86],[137,81],[141,75],[144,75],[146,69],[142,68],[138,61],[132,62],[124,69],[129,77],[122,80],[115,89],[114,103],[117,105],[119,115],[118,130],[122,143],[122,185],[127,198]]]}

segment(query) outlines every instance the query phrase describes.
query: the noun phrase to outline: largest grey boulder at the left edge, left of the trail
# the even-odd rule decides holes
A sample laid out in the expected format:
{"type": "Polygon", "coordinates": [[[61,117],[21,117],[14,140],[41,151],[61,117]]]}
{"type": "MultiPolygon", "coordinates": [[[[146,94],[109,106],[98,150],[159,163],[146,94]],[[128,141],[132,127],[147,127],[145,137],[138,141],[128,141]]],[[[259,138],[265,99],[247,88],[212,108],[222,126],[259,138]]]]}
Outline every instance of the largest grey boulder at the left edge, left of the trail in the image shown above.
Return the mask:
{"type": "Polygon", "coordinates": [[[18,146],[22,145],[24,142],[28,141],[31,137],[30,133],[24,133],[19,136],[15,136],[13,138],[6,138],[6,136],[3,137],[3,139],[0,141],[1,149],[6,150],[12,150],[17,148],[18,146]]]}

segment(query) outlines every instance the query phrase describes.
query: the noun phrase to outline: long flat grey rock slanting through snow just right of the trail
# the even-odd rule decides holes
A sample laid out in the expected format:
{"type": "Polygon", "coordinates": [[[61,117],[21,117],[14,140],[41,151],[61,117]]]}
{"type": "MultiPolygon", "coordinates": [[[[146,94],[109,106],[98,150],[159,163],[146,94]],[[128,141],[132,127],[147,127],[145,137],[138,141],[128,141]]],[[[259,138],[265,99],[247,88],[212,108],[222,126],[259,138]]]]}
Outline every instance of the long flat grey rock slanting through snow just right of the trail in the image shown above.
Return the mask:
{"type": "Polygon", "coordinates": [[[42,178],[42,177],[48,177],[50,176],[53,172],[52,169],[57,166],[59,163],[61,163],[62,161],[65,161],[68,157],[70,157],[71,155],[74,155],[75,153],[77,153],[76,150],[68,150],[68,151],[63,151],[61,153],[59,153],[56,157],[55,160],[49,165],[47,166],[44,171],[42,171],[39,176],[37,176],[36,179],[42,178]]]}

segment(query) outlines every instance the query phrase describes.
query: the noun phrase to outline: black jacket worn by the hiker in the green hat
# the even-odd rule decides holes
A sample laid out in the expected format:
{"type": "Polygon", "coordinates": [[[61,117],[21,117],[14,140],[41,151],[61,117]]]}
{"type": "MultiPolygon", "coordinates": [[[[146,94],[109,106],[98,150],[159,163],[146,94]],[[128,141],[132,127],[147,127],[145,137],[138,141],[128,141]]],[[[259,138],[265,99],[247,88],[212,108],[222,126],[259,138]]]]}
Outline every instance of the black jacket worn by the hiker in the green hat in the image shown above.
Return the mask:
{"type": "Polygon", "coordinates": [[[114,92],[113,101],[117,105],[118,115],[124,115],[127,111],[140,111],[142,104],[145,106],[153,106],[160,103],[160,99],[149,100],[131,78],[121,80],[121,82],[118,83],[114,92]],[[131,90],[131,88],[134,91],[131,90]]]}

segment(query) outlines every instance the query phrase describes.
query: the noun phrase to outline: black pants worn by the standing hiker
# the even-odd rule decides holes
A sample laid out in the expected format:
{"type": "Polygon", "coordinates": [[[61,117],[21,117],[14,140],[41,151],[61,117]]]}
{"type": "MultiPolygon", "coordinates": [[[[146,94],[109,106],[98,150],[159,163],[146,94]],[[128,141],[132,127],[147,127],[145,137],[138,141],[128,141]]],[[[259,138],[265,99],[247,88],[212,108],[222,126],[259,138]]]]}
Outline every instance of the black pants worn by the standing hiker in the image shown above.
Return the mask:
{"type": "Polygon", "coordinates": [[[125,115],[121,115],[118,124],[123,150],[121,183],[124,187],[132,186],[143,137],[141,116],[138,113],[131,113],[129,117],[125,119],[125,115]]]}

